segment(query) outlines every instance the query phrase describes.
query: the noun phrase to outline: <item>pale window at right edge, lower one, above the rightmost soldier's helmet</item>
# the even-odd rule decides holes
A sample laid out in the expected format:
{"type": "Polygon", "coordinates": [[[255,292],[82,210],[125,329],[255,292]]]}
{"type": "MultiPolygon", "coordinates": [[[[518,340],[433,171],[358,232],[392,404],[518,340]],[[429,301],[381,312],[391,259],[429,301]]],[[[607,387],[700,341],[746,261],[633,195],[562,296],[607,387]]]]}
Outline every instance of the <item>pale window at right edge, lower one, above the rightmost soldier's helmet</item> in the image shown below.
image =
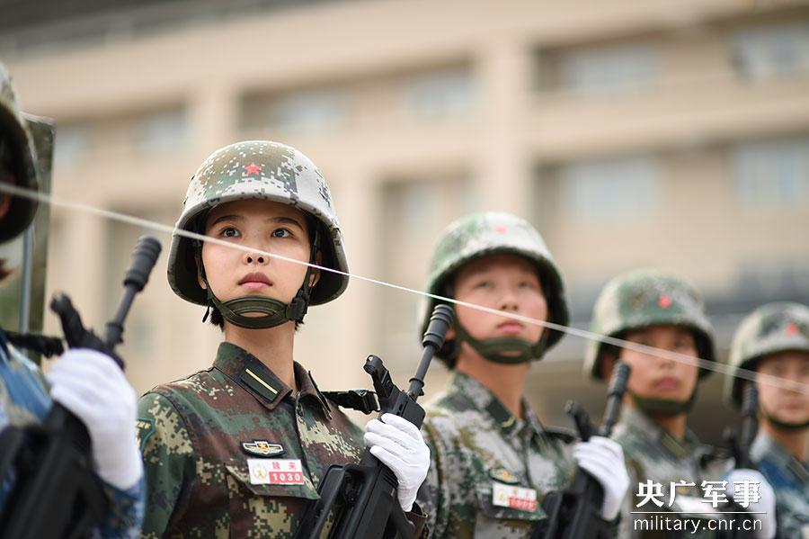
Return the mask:
{"type": "Polygon", "coordinates": [[[789,207],[809,201],[809,137],[741,144],[731,151],[742,204],[789,207]]]}

